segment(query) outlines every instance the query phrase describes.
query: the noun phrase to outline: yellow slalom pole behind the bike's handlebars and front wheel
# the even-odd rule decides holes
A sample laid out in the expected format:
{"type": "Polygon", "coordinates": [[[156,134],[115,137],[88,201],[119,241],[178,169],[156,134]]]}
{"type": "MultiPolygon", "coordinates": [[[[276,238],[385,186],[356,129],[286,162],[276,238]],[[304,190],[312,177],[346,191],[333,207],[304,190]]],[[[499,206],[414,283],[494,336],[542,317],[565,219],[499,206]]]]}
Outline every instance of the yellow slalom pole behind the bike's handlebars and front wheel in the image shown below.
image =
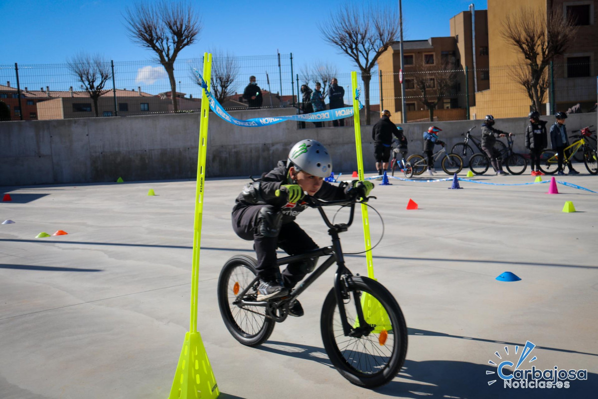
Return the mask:
{"type": "MultiPolygon", "coordinates": [[[[359,125],[359,102],[355,99],[355,93],[357,90],[357,72],[351,72],[351,83],[353,87],[353,121],[355,124],[355,149],[357,152],[357,170],[359,174],[359,180],[364,179],[364,160],[361,149],[361,126],[359,125]]],[[[374,278],[374,260],[372,258],[371,251],[371,237],[370,237],[370,219],[368,218],[368,207],[364,203],[361,204],[361,218],[364,223],[364,240],[365,240],[365,259],[368,268],[368,277],[374,278]]],[[[361,296],[361,306],[364,310],[364,318],[368,324],[376,324],[374,332],[386,333],[392,330],[390,325],[388,313],[382,306],[382,304],[376,300],[373,296],[365,293],[361,296]]],[[[359,324],[358,320],[355,320],[355,327],[359,324]]]]}

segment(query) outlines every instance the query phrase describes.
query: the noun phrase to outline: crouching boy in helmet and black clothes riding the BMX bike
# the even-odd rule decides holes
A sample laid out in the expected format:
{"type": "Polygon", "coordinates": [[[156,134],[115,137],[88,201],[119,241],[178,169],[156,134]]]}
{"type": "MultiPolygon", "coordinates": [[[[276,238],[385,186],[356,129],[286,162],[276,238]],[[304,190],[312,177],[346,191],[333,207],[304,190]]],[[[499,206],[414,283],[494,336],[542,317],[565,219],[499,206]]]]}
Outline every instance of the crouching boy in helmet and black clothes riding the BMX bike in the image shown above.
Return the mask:
{"type": "MultiPolygon", "coordinates": [[[[280,275],[276,249],[289,255],[303,254],[318,248],[295,218],[307,205],[304,196],[332,201],[367,197],[374,185],[370,181],[341,182],[332,185],[324,181],[332,170],[328,150],[312,139],[295,144],[288,159],[278,162],[261,179],[248,183],[236,199],[232,223],[234,232],[244,240],[253,240],[260,277],[258,301],[282,297],[289,293],[307,273],[313,271],[317,258],[291,263],[280,275]]],[[[299,301],[289,309],[289,315],[302,316],[299,301]]]]}

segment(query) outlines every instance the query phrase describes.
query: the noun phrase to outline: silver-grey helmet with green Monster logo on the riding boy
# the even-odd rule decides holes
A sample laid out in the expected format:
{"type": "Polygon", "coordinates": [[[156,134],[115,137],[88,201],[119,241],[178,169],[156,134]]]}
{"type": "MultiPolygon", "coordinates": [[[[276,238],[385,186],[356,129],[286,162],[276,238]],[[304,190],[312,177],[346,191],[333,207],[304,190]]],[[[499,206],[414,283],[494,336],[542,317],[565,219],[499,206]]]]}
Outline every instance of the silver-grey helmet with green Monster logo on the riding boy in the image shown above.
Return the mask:
{"type": "Polygon", "coordinates": [[[332,159],[320,142],[306,139],[295,144],[289,151],[287,167],[295,166],[310,175],[328,177],[332,172],[332,159]]]}

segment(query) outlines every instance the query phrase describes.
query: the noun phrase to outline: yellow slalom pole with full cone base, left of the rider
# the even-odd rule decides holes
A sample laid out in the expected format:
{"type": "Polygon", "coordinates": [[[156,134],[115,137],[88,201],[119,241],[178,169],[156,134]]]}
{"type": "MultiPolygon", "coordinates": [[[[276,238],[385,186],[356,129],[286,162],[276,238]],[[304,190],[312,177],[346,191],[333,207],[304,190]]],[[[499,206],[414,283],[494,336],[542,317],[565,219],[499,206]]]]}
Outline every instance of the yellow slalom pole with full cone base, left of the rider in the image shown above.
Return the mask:
{"type": "MultiPolygon", "coordinates": [[[[212,54],[203,53],[203,78],[210,87],[212,54]]],[[[220,395],[210,360],[197,331],[197,287],[199,285],[199,250],[202,239],[203,191],[206,177],[208,146],[208,117],[210,106],[205,89],[202,91],[202,113],[199,120],[199,148],[197,150],[197,183],[195,191],[195,217],[193,221],[193,255],[191,264],[191,320],[189,331],[176,366],[175,378],[169,399],[206,399],[220,395]]]]}

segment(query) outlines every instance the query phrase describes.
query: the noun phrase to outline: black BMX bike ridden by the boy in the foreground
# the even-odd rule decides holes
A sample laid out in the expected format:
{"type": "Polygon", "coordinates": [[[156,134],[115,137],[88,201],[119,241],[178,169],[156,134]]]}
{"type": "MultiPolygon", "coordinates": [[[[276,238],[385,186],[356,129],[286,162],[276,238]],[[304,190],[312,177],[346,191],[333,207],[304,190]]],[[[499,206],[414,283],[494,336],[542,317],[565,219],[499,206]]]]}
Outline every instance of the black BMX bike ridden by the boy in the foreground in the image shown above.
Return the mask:
{"type": "Polygon", "coordinates": [[[354,275],[344,263],[338,234],[353,223],[355,204],[363,200],[322,202],[306,197],[310,208],[318,209],[332,238],[332,245],[301,255],[278,258],[279,266],[329,257],[288,296],[257,300],[260,280],[257,261],[247,255],[236,255],[224,264],[218,279],[218,305],[224,324],[231,335],[247,346],[258,346],[272,333],[276,322],[285,321],[289,307],[328,267],[336,263],[334,287],[328,292],[320,318],[322,341],[331,363],[349,382],[374,388],[392,380],[401,369],[407,354],[407,325],[399,304],[379,282],[354,275]],[[332,224],[324,206],[349,206],[347,223],[332,224]]]}

